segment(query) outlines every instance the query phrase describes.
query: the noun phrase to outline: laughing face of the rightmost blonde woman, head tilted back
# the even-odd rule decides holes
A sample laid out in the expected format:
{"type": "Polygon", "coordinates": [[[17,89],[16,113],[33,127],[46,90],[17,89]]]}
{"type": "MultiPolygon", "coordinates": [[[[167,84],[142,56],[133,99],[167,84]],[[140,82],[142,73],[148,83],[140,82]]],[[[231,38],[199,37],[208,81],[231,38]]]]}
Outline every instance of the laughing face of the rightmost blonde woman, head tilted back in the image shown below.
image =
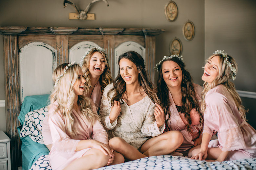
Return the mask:
{"type": "Polygon", "coordinates": [[[211,83],[218,75],[219,75],[219,56],[214,56],[204,65],[202,80],[206,81],[207,83],[211,83]]]}

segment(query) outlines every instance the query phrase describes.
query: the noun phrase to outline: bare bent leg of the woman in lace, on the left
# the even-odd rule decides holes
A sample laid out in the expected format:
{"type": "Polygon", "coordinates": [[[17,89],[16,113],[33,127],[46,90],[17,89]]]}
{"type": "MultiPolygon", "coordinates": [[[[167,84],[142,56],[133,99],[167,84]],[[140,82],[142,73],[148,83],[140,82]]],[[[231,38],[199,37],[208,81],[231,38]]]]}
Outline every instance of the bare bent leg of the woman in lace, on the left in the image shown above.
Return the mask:
{"type": "Polygon", "coordinates": [[[137,160],[140,158],[147,157],[146,155],[140,153],[138,149],[128,144],[119,137],[114,137],[109,140],[109,145],[112,149],[122,154],[128,160],[137,160]]]}

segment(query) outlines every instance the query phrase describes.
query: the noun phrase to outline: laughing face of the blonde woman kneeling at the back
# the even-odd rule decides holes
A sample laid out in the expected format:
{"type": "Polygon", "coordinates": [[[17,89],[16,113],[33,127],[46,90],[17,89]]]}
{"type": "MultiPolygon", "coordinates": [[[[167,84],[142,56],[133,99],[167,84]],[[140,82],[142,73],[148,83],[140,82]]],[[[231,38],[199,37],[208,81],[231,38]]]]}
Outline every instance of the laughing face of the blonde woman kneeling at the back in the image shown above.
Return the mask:
{"type": "Polygon", "coordinates": [[[89,72],[92,76],[100,76],[106,67],[105,59],[99,52],[93,53],[90,59],[89,72]]]}

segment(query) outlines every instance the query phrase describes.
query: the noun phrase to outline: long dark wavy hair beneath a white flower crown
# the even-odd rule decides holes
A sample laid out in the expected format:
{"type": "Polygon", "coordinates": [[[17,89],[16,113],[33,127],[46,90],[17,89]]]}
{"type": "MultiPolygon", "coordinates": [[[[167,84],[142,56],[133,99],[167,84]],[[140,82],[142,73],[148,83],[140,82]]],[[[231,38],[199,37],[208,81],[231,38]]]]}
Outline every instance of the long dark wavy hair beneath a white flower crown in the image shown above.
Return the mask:
{"type": "MultiPolygon", "coordinates": [[[[196,97],[196,92],[193,86],[193,79],[190,75],[190,73],[185,69],[185,64],[178,58],[169,58],[169,59],[165,59],[163,60],[163,62],[165,61],[174,61],[176,62],[180,67],[181,67],[181,71],[182,71],[182,81],[181,81],[181,103],[182,106],[184,108],[184,116],[186,121],[188,122],[188,124],[186,125],[186,128],[189,132],[191,132],[191,124],[192,124],[192,120],[190,117],[190,111],[195,108],[200,116],[200,124],[203,124],[203,115],[200,111],[200,104],[199,101],[196,97]]],[[[161,64],[158,66],[158,72],[159,72],[159,77],[158,77],[158,81],[157,81],[157,96],[160,99],[160,105],[162,107],[162,109],[164,110],[164,114],[165,114],[165,118],[166,115],[168,115],[168,119],[165,120],[165,123],[167,125],[167,121],[170,119],[171,117],[171,111],[170,111],[170,106],[171,106],[171,102],[169,99],[169,89],[163,79],[163,73],[162,73],[162,64],[163,62],[161,62],[161,64]]],[[[170,130],[170,127],[168,127],[168,130],[170,130]]]]}

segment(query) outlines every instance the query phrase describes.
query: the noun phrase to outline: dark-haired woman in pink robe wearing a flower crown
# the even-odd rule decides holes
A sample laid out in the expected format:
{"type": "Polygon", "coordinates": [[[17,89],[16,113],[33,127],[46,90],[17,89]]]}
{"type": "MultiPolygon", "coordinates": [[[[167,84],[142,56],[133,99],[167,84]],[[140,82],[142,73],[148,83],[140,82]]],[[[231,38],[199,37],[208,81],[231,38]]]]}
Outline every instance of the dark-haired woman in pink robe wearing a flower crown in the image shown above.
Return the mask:
{"type": "Polygon", "coordinates": [[[182,56],[164,56],[156,68],[159,71],[157,95],[165,112],[165,131],[181,132],[183,141],[175,151],[187,156],[189,149],[202,140],[203,116],[199,100],[203,88],[192,83],[182,56]]]}

